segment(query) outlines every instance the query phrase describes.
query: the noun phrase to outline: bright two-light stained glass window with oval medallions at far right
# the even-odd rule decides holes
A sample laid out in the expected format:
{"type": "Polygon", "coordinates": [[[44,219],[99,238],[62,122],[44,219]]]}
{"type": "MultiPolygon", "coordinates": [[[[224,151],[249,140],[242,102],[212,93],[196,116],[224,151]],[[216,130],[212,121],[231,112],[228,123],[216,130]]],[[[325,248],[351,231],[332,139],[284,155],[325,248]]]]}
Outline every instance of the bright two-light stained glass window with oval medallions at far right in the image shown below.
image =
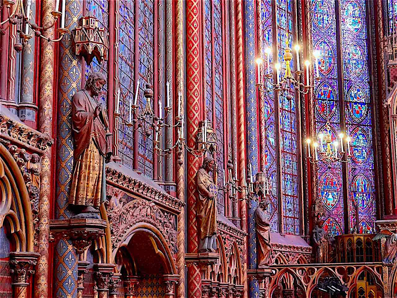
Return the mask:
{"type": "Polygon", "coordinates": [[[331,169],[319,164],[318,192],[326,209],[324,227],[331,235],[371,233],[376,206],[366,1],[341,0],[336,6],[334,0],[312,0],[311,4],[312,39],[321,53],[318,63],[322,74],[315,91],[316,130],[324,132],[327,121],[333,139],[345,130],[351,136],[353,156],[346,164],[346,176],[342,164],[331,169]],[[335,14],[337,7],[339,13],[335,14]],[[338,44],[341,56],[337,54],[338,44]],[[339,72],[337,61],[343,65],[339,72]],[[343,204],[344,194],[347,206],[343,204]],[[346,217],[349,227],[344,226],[346,217]]]}

